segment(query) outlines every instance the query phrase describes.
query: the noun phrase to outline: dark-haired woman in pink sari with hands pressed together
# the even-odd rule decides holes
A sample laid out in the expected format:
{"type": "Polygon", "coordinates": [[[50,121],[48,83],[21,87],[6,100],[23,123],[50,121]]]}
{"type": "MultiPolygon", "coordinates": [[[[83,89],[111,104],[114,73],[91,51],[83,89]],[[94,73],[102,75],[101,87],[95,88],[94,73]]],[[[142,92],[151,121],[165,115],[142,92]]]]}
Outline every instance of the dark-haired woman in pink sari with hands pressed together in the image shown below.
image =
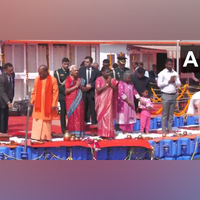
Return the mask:
{"type": "Polygon", "coordinates": [[[102,138],[114,138],[113,120],[116,117],[116,98],[117,81],[112,79],[109,74],[111,70],[103,67],[102,76],[97,78],[95,83],[95,110],[98,120],[98,135],[102,138]]]}

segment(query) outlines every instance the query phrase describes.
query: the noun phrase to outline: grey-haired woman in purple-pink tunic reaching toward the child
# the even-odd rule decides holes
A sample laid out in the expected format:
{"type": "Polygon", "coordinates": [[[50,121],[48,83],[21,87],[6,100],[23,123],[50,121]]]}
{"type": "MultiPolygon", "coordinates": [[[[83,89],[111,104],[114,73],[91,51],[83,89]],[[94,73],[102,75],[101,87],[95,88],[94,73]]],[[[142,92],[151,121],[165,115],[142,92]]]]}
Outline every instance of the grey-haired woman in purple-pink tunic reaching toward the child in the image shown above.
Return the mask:
{"type": "Polygon", "coordinates": [[[140,95],[131,83],[132,72],[126,71],[118,85],[118,103],[116,123],[123,133],[132,133],[136,122],[134,96],[140,100],[140,95]]]}

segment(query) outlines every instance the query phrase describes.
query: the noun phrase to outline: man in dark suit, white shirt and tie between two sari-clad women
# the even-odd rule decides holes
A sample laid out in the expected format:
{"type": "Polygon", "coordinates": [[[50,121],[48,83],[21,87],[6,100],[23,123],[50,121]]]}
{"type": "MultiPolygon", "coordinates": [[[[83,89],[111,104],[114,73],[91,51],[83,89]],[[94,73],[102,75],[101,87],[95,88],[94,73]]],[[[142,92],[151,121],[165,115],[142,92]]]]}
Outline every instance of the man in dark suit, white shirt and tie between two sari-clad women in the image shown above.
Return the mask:
{"type": "Polygon", "coordinates": [[[84,92],[85,102],[85,122],[90,122],[92,118],[92,124],[97,124],[96,111],[95,111],[95,81],[99,77],[100,72],[98,69],[92,67],[93,59],[90,56],[85,57],[84,67],[79,70],[79,77],[85,80],[85,86],[87,91],[84,92]]]}

